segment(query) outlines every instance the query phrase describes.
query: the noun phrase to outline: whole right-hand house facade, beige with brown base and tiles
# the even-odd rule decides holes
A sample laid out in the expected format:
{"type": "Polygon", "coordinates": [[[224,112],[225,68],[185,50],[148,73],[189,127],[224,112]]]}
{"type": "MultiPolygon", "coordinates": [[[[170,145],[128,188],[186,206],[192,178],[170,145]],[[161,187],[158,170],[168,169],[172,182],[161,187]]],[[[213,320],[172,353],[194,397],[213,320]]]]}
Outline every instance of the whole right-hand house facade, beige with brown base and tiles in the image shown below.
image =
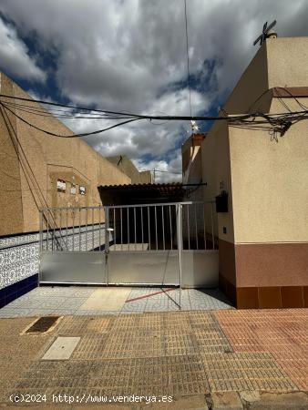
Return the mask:
{"type": "MultiPolygon", "coordinates": [[[[268,38],[223,115],[303,111],[307,50],[307,37],[268,38]]],[[[282,137],[216,121],[200,155],[203,199],[228,194],[228,211],[218,213],[215,230],[221,289],[238,308],[307,307],[307,121],[293,124],[282,137]]]]}

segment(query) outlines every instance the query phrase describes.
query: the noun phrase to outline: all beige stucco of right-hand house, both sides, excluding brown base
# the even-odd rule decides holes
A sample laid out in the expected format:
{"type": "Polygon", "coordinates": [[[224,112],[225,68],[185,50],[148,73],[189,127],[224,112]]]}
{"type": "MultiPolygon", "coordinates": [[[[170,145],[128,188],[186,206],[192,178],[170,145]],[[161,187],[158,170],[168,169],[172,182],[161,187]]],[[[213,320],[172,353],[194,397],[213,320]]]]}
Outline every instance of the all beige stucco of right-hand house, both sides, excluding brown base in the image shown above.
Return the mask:
{"type": "MultiPolygon", "coordinates": [[[[308,37],[267,39],[242,74],[224,108],[229,114],[285,112],[272,87],[308,87],[308,37]]],[[[283,99],[294,111],[292,98],[283,99]]],[[[301,98],[307,106],[308,99],[301,98]]],[[[218,194],[220,180],[232,208],[219,214],[219,236],[235,243],[308,240],[307,123],[290,128],[278,143],[268,132],[216,123],[202,143],[205,199],[218,194]],[[230,149],[230,158],[229,158],[230,149]],[[232,238],[232,221],[234,238],[232,238]],[[227,226],[229,233],[222,233],[227,226]]]]}

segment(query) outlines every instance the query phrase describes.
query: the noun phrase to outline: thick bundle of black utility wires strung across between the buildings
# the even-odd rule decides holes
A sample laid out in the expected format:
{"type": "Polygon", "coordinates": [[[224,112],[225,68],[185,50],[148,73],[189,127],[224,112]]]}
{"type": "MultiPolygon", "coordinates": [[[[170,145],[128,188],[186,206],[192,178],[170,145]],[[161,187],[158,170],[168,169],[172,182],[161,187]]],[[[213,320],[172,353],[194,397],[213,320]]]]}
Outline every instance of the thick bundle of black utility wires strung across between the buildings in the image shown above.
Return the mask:
{"type": "MultiPolygon", "coordinates": [[[[276,88],[277,90],[278,88],[276,88]]],[[[299,99],[294,97],[290,91],[286,88],[282,88],[289,93],[290,97],[297,102],[299,105],[298,111],[293,111],[289,108],[282,97],[279,97],[284,108],[287,109],[286,112],[277,114],[265,114],[262,112],[252,112],[247,114],[241,114],[237,116],[228,116],[224,114],[219,117],[185,117],[185,116],[150,116],[133,114],[128,112],[120,111],[109,111],[101,109],[83,108],[76,107],[67,104],[59,104],[50,101],[38,100],[26,97],[12,97],[4,94],[0,94],[0,106],[4,108],[6,113],[11,113],[15,118],[20,119],[22,122],[26,123],[29,127],[36,128],[37,130],[44,132],[47,135],[58,137],[58,138],[77,138],[77,137],[87,137],[90,135],[100,134],[102,132],[108,131],[112,128],[117,128],[128,123],[140,121],[142,119],[147,119],[150,122],[152,120],[162,120],[162,121],[227,121],[228,125],[236,128],[249,128],[256,130],[268,131],[274,138],[277,135],[283,136],[285,132],[293,126],[293,124],[308,118],[308,107],[303,105],[299,99]],[[40,104],[41,106],[39,106],[40,104]],[[59,119],[74,118],[74,119],[89,119],[89,120],[108,120],[117,121],[113,125],[108,125],[106,128],[100,128],[95,131],[61,135],[49,131],[45,128],[38,127],[33,121],[30,122],[28,119],[29,114],[37,117],[56,117],[59,119]],[[119,121],[120,120],[120,121],[119,121]]]]}

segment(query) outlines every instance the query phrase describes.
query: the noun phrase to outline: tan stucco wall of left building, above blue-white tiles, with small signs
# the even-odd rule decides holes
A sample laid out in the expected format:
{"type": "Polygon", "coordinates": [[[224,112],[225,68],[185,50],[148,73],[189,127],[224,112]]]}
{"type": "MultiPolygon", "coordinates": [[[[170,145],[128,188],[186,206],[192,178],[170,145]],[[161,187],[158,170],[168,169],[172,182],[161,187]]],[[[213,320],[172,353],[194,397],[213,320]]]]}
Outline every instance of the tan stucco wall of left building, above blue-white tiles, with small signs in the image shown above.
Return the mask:
{"type": "MultiPolygon", "coordinates": [[[[15,97],[29,97],[25,91],[16,86],[9,78],[1,74],[1,92],[14,93],[15,97]]],[[[36,103],[26,102],[36,107],[36,103]]],[[[16,110],[16,114],[43,128],[57,134],[71,135],[73,132],[53,117],[39,117],[16,110]]],[[[0,118],[1,138],[6,138],[6,150],[13,157],[5,156],[2,169],[14,169],[15,177],[1,175],[1,184],[6,189],[14,189],[15,194],[1,192],[0,235],[13,234],[39,229],[38,208],[53,206],[95,206],[100,204],[98,186],[110,184],[128,184],[131,179],[120,169],[112,165],[98,152],[91,149],[80,138],[56,138],[31,128],[12,114],[9,115],[15,124],[15,132],[20,143],[19,160],[14,154],[11,138],[7,138],[4,118],[0,118]],[[24,155],[25,153],[25,155],[24,155]],[[17,166],[18,165],[18,166],[17,166]],[[20,178],[18,177],[18,172],[20,178]],[[56,180],[67,182],[67,192],[56,191],[56,180]],[[70,183],[84,184],[85,196],[71,195],[70,183]],[[18,186],[19,184],[19,186],[18,186]]],[[[14,133],[12,138],[15,139],[14,133]]]]}

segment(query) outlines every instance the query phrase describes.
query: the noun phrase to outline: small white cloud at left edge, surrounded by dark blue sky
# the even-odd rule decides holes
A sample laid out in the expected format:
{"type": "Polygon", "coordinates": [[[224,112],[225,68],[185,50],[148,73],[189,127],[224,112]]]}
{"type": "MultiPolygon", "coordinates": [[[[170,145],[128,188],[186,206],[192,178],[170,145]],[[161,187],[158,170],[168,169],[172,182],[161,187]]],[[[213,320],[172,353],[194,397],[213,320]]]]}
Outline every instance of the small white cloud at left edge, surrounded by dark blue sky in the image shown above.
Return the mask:
{"type": "Polygon", "coordinates": [[[27,80],[45,81],[46,74],[29,56],[26,44],[18,38],[15,28],[5,25],[1,17],[0,43],[0,64],[7,74],[27,80]]]}

